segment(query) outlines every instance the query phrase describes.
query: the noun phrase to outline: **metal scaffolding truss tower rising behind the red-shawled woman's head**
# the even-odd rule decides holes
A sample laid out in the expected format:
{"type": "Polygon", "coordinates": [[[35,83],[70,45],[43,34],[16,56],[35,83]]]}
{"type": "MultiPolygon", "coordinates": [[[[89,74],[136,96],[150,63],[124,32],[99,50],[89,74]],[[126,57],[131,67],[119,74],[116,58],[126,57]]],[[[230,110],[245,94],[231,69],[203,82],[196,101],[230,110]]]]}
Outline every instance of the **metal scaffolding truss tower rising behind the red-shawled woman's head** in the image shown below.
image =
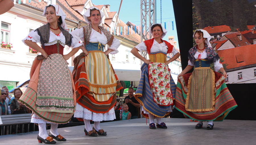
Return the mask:
{"type": "Polygon", "coordinates": [[[155,0],[141,0],[141,42],[151,38],[149,29],[153,24],[155,24],[155,0]]]}

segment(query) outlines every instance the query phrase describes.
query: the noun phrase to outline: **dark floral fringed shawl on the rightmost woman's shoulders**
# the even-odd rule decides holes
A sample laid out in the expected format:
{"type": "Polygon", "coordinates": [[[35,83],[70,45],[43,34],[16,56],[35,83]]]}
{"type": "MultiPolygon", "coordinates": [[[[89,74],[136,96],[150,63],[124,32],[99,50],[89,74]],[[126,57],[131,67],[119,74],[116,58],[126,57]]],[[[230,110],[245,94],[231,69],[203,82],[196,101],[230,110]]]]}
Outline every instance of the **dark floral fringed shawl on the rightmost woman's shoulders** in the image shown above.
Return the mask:
{"type": "MultiPolygon", "coordinates": [[[[220,59],[218,53],[216,51],[214,51],[212,49],[212,47],[208,47],[207,45],[205,45],[205,51],[208,55],[208,57],[206,59],[208,59],[210,61],[210,63],[214,63],[218,59],[220,59]]],[[[191,63],[193,63],[193,64],[195,62],[195,57],[194,56],[195,56],[196,52],[197,52],[197,45],[195,45],[194,47],[189,49],[188,58],[191,61],[191,63]]]]}

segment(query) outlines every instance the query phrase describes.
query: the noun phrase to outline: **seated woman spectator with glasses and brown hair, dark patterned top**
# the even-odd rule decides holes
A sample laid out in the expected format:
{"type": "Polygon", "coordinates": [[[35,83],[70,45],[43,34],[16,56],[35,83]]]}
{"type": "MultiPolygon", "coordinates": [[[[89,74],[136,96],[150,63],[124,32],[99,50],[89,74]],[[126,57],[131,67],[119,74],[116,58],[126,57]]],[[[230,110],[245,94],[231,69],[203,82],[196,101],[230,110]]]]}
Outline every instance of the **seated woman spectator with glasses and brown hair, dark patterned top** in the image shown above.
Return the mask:
{"type": "Polygon", "coordinates": [[[12,114],[25,114],[30,113],[30,109],[28,109],[25,105],[18,102],[21,95],[23,94],[20,88],[15,88],[13,91],[14,99],[11,101],[10,109],[12,114]]]}

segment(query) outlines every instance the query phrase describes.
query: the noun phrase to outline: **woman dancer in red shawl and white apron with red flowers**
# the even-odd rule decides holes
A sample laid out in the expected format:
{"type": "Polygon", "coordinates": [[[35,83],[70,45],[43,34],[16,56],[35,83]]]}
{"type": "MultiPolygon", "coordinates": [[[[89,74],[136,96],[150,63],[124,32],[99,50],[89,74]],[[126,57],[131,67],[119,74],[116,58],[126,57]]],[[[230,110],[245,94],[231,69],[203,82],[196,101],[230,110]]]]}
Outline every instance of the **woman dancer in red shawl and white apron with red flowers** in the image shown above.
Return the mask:
{"type": "Polygon", "coordinates": [[[149,128],[166,129],[165,123],[161,123],[161,118],[172,111],[171,105],[176,89],[168,64],[179,57],[179,52],[169,42],[161,39],[167,33],[161,24],[152,25],[149,32],[154,38],[138,44],[131,50],[134,56],[144,61],[141,67],[141,80],[134,97],[143,106],[142,115],[149,118],[149,128]],[[138,53],[142,50],[147,51],[149,60],[138,53]],[[174,56],[166,61],[168,53],[174,56]]]}

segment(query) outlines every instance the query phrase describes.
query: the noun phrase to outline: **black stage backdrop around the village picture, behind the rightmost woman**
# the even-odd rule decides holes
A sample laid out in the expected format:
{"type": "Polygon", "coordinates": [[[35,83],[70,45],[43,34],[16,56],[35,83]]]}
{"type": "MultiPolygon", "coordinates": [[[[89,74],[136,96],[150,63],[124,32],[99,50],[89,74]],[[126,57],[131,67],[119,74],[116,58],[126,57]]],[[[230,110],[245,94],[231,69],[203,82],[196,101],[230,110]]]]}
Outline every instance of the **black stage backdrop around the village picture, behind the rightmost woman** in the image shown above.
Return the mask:
{"type": "MultiPolygon", "coordinates": [[[[181,67],[183,70],[187,66],[188,51],[193,47],[192,0],[172,0],[172,3],[179,40],[181,67]]],[[[227,84],[227,86],[236,100],[238,107],[231,111],[226,119],[256,120],[256,83],[227,84]]]]}

